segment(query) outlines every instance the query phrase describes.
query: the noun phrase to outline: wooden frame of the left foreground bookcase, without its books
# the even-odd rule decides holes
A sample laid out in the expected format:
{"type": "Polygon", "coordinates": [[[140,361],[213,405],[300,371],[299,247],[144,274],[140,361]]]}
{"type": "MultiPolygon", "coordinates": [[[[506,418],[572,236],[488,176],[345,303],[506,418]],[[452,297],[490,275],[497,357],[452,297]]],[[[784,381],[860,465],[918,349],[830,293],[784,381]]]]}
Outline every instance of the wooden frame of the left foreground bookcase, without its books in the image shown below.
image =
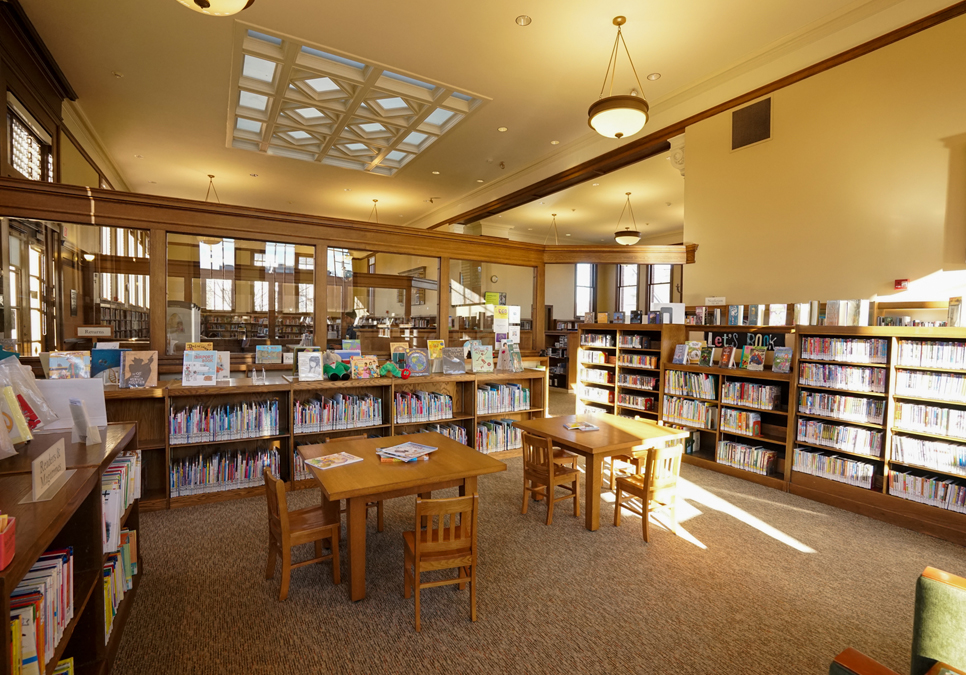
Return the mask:
{"type": "MultiPolygon", "coordinates": [[[[102,570],[107,562],[103,551],[101,475],[125,450],[137,448],[137,430],[133,424],[108,426],[103,443],[86,446],[70,443],[70,434],[38,435],[17,457],[0,461],[0,510],[17,519],[17,551],[10,565],[0,571],[0,616],[10,617],[10,594],[37,559],[48,550],[73,549],[74,616],[66,625],[54,648],[45,673],[52,673],[56,663],[73,657],[77,672],[108,673],[117,654],[124,625],[144,573],[144,559],[138,551],[138,573],[132,588],[113,618],[112,630],[105,641],[105,606],[102,570]],[[67,468],[75,473],[49,501],[20,504],[30,494],[29,462],[47,450],[59,438],[67,444],[67,468]]],[[[138,501],[135,500],[121,517],[123,528],[138,530],[138,501]]],[[[139,547],[140,548],[140,547],[139,547]]],[[[9,623],[6,624],[9,628],[9,623]]],[[[0,675],[11,672],[10,631],[4,631],[0,675]]]]}

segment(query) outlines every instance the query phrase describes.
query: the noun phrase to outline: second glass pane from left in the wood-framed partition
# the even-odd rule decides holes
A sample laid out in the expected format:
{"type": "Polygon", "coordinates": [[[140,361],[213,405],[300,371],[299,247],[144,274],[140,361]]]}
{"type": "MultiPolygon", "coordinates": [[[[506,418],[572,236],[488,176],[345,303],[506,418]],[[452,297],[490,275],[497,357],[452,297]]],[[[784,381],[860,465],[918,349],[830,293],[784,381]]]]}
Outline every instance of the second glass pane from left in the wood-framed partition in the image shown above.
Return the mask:
{"type": "Polygon", "coordinates": [[[166,352],[188,342],[218,351],[312,344],[315,247],[168,235],[166,352]]]}

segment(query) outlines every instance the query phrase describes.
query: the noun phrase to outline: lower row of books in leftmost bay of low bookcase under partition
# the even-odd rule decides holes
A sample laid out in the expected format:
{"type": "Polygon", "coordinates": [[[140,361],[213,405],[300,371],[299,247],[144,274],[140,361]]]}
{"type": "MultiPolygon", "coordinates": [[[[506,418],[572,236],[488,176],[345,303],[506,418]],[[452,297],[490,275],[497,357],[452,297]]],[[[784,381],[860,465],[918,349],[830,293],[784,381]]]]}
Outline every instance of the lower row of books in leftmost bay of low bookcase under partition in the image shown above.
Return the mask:
{"type": "Polygon", "coordinates": [[[278,450],[228,450],[171,459],[171,496],[224,492],[263,485],[262,470],[279,475],[278,450]]]}

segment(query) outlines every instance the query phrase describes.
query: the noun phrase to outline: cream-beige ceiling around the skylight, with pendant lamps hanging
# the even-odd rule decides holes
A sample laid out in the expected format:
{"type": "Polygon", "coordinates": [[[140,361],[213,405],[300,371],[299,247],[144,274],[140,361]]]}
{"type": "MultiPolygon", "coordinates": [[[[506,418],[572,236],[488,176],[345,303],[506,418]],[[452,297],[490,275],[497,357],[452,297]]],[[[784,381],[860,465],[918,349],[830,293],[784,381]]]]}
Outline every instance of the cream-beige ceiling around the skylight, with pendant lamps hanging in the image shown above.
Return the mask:
{"type": "MultiPolygon", "coordinates": [[[[638,72],[662,74],[644,83],[650,129],[948,4],[256,0],[236,18],[213,18],[175,0],[21,3],[132,191],[203,199],[211,173],[222,202],[366,220],[378,199],[381,222],[416,226],[618,147],[586,121],[617,14],[628,18],[625,37],[638,72]],[[533,22],[521,28],[514,18],[524,13],[533,22]],[[391,178],[233,149],[226,129],[235,103],[229,91],[233,58],[239,58],[236,21],[491,100],[391,178]],[[498,132],[500,126],[509,131],[498,132]],[[551,145],[555,140],[560,144],[551,145]]],[[[622,63],[615,91],[631,86],[622,63]]],[[[639,220],[655,230],[679,227],[682,199],[673,188],[680,175],[664,159],[645,162],[640,176],[638,169],[626,171],[627,180],[579,186],[501,222],[537,232],[549,223],[551,208],[576,209],[560,216],[561,228],[575,228],[574,236],[580,229],[583,239],[596,241],[612,233],[623,193],[639,191],[632,198],[639,220]],[[672,207],[657,206],[667,201],[672,207]]]]}

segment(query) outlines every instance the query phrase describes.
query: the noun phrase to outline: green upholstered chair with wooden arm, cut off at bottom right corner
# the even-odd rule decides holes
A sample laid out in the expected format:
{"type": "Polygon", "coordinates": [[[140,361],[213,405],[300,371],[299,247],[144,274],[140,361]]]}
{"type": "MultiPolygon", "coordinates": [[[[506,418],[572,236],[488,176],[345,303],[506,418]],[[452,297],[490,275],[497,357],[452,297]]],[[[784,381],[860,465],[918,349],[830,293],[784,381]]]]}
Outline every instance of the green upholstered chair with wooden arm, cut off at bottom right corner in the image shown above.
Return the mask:
{"type": "MultiPolygon", "coordinates": [[[[966,579],[927,567],[916,582],[910,673],[926,675],[936,663],[966,669],[966,579]]],[[[829,675],[896,674],[846,649],[832,661],[829,675]]]]}

